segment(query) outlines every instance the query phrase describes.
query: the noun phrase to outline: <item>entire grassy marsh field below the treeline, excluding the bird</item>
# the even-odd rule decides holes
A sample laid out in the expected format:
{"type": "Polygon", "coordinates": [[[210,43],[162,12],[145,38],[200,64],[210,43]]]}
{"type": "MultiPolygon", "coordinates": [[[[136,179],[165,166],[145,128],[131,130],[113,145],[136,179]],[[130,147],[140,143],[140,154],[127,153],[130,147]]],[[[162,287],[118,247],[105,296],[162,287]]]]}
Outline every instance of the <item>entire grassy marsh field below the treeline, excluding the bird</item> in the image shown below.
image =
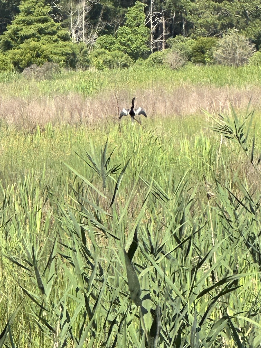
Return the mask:
{"type": "Polygon", "coordinates": [[[0,76],[0,347],[260,347],[260,82],[0,76]]]}

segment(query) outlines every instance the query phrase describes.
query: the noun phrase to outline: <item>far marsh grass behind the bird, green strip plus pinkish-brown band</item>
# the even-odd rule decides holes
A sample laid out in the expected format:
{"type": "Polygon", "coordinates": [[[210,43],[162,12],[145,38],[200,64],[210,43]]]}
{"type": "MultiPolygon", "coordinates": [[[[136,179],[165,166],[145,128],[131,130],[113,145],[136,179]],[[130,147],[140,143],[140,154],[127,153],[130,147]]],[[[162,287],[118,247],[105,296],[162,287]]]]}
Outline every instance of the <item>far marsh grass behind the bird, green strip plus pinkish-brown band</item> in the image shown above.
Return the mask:
{"type": "Polygon", "coordinates": [[[252,105],[260,110],[259,68],[185,66],[178,71],[132,68],[117,71],[63,71],[53,79],[26,79],[0,74],[0,116],[9,125],[31,131],[48,124],[116,122],[119,109],[133,96],[152,119],[236,111],[252,105]],[[118,99],[118,104],[117,100],[118,99]]]}

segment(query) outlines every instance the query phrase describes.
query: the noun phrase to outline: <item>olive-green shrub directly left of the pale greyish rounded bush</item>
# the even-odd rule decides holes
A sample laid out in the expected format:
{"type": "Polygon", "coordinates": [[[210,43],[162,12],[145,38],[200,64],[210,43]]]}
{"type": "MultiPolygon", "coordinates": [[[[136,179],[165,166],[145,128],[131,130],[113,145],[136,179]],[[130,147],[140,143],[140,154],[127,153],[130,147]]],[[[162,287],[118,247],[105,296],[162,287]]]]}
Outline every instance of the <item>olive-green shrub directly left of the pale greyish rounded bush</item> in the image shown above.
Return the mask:
{"type": "Polygon", "coordinates": [[[213,62],[213,49],[217,39],[199,37],[191,43],[191,62],[207,64],[213,62]]]}

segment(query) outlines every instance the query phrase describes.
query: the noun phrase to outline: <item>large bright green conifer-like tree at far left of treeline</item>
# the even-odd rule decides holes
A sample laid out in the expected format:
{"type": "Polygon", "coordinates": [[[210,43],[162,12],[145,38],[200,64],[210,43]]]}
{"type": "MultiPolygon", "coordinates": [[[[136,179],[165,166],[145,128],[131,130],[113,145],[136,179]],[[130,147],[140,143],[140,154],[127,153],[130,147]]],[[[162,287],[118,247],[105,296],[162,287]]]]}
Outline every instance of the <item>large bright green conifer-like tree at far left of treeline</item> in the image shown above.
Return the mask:
{"type": "Polygon", "coordinates": [[[46,61],[74,66],[76,53],[70,35],[50,18],[44,0],[23,0],[19,10],[0,41],[0,50],[13,65],[19,70],[46,61]]]}

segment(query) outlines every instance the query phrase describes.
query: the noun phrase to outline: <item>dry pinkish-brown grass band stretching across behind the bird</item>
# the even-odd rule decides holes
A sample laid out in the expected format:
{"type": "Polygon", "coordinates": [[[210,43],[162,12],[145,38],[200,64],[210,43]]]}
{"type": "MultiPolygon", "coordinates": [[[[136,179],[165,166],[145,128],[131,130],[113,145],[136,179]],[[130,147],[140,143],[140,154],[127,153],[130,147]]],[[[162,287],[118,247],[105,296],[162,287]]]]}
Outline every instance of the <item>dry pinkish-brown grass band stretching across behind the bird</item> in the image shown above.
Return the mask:
{"type": "MultiPolygon", "coordinates": [[[[129,90],[117,92],[119,110],[129,108],[136,96],[136,106],[142,106],[149,118],[167,116],[200,115],[203,110],[211,114],[224,113],[230,108],[246,108],[251,99],[251,108],[261,109],[260,87],[239,89],[231,87],[182,86],[167,91],[162,89],[129,90]]],[[[55,95],[53,97],[0,97],[0,117],[8,124],[34,128],[52,124],[94,124],[118,120],[118,106],[113,90],[93,97],[81,94],[55,95]]]]}

